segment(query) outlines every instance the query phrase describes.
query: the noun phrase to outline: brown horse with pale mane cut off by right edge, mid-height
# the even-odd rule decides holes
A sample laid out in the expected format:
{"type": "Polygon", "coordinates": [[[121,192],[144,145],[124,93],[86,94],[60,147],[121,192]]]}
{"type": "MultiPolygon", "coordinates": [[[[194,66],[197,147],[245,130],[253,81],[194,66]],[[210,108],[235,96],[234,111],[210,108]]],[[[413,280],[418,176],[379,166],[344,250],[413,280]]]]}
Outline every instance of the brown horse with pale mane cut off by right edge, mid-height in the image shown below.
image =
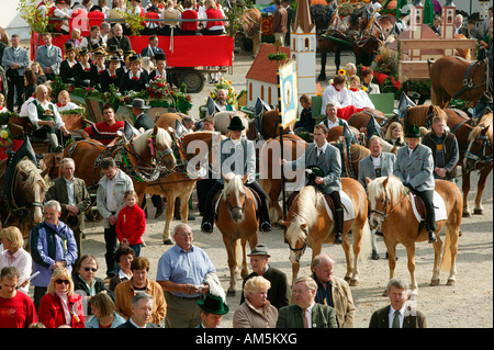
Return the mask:
{"type": "Polygon", "coordinates": [[[468,193],[470,191],[470,171],[469,169],[480,170],[480,178],[476,188],[473,214],[483,214],[482,194],[485,189],[487,176],[492,171],[492,151],[493,151],[493,123],[492,113],[484,114],[479,124],[470,132],[469,146],[463,157],[463,216],[470,216],[468,193]],[[465,172],[467,171],[467,172],[465,172]]]}

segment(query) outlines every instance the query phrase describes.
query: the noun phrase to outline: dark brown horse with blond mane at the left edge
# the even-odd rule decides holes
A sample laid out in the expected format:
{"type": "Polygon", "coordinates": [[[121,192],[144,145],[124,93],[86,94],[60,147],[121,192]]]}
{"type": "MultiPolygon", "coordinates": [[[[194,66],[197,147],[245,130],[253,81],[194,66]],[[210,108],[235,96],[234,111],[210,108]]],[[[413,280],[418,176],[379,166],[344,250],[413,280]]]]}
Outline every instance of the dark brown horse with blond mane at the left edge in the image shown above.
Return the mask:
{"type": "MultiPolygon", "coordinates": [[[[7,160],[0,163],[0,183],[3,183],[7,160]]],[[[15,165],[13,181],[9,193],[1,193],[1,226],[16,226],[24,238],[24,248],[29,250],[31,229],[43,221],[43,202],[47,189],[44,176],[33,161],[24,157],[15,165]]]]}

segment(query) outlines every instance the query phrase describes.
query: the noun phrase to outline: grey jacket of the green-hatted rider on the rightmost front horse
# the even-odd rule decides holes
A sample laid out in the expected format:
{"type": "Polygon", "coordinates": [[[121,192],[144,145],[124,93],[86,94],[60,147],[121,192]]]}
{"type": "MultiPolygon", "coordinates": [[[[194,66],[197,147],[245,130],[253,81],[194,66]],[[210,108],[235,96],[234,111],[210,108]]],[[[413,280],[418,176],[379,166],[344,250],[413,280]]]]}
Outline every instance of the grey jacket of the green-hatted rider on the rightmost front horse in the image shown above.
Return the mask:
{"type": "Polygon", "coordinates": [[[394,176],[403,183],[408,182],[417,191],[430,191],[436,187],[434,180],[434,158],[429,147],[418,144],[412,156],[408,147],[398,148],[396,153],[396,168],[394,176]],[[407,180],[407,177],[409,179],[407,180]]]}

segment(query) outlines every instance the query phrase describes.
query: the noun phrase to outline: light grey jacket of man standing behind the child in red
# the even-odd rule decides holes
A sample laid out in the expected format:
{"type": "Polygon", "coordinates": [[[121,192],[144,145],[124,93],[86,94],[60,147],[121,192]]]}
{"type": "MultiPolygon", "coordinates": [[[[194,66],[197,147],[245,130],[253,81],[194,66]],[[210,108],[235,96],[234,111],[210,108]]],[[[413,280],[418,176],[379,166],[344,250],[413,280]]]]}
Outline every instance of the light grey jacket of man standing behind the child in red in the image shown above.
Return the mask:
{"type": "MultiPolygon", "coordinates": [[[[125,192],[130,190],[134,190],[134,183],[132,179],[122,170],[119,169],[116,183],[115,183],[115,200],[116,200],[116,212],[115,216],[119,216],[120,210],[125,205],[124,195],[125,192]]],[[[108,178],[102,177],[100,182],[98,182],[98,193],[97,193],[97,207],[100,214],[103,216],[103,227],[110,228],[110,223],[108,218],[112,215],[112,212],[108,210],[106,206],[106,188],[108,188],[108,178]]]]}

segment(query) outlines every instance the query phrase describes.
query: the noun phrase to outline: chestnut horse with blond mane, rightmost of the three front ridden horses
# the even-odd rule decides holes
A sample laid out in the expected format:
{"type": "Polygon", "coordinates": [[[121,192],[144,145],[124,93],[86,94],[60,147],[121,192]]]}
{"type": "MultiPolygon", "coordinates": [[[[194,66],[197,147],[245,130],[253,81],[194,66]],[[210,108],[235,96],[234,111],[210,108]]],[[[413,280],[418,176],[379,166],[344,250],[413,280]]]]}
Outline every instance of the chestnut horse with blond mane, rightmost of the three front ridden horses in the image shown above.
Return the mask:
{"type": "MultiPolygon", "coordinates": [[[[394,278],[396,266],[396,245],[402,244],[408,256],[408,271],[411,289],[418,290],[415,279],[415,242],[427,240],[425,227],[418,232],[418,221],[413,215],[412,199],[407,188],[396,177],[367,179],[368,200],[370,207],[369,225],[371,229],[380,229],[389,252],[390,279],[394,278]]],[[[439,284],[440,269],[449,270],[448,285],[456,282],[456,257],[458,252],[458,238],[460,236],[461,211],[463,200],[460,190],[454,183],[436,180],[436,192],[446,204],[447,219],[437,222],[434,242],[434,269],[430,285],[439,284]],[[446,226],[445,250],[441,258],[442,241],[439,232],[446,226]]]]}

